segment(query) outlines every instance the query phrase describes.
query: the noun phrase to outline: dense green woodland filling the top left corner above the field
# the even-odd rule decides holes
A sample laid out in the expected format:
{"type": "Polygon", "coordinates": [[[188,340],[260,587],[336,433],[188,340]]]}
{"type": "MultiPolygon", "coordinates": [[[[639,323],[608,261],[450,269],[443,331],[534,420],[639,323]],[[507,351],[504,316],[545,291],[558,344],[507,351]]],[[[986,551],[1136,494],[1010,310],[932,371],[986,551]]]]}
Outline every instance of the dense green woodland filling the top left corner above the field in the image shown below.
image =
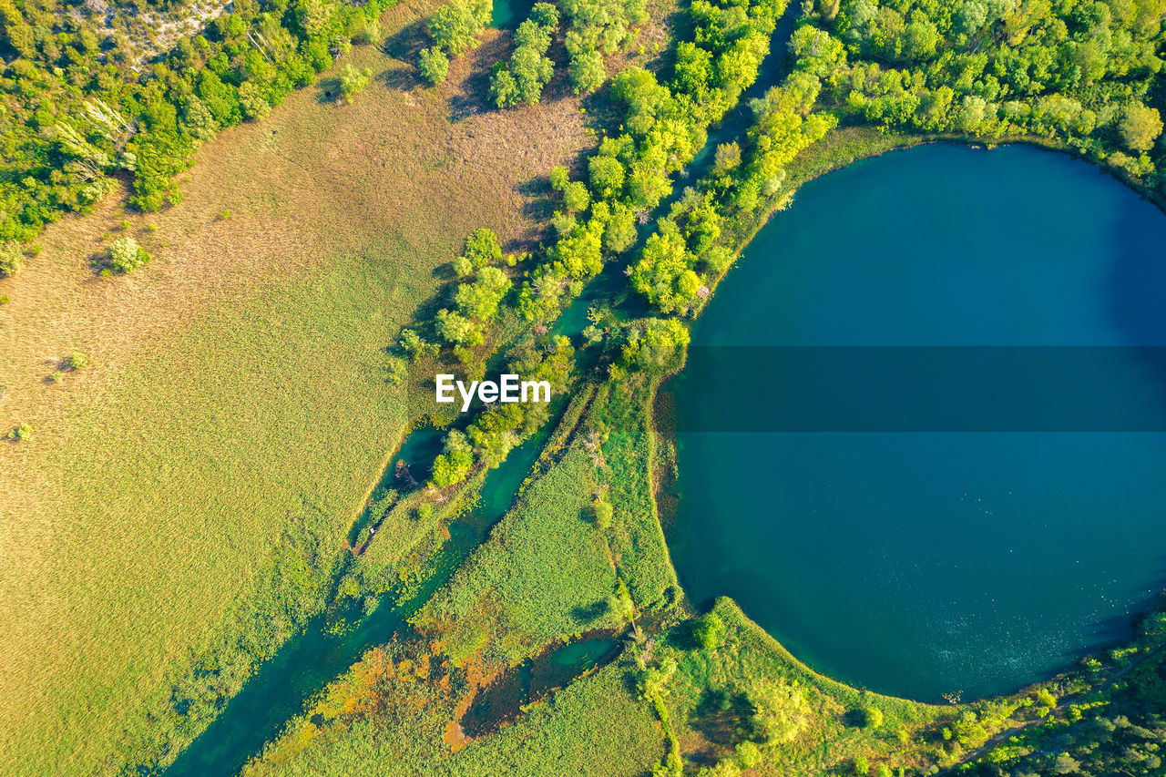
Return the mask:
{"type": "MultiPolygon", "coordinates": [[[[142,210],[176,203],[174,176],[224,127],[261,119],[347,50],[379,40],[394,0],[234,0],[154,62],[104,14],[0,0],[0,242],[29,242],[133,174],[142,210]]],[[[124,12],[115,12],[120,18],[124,12]]]]}

